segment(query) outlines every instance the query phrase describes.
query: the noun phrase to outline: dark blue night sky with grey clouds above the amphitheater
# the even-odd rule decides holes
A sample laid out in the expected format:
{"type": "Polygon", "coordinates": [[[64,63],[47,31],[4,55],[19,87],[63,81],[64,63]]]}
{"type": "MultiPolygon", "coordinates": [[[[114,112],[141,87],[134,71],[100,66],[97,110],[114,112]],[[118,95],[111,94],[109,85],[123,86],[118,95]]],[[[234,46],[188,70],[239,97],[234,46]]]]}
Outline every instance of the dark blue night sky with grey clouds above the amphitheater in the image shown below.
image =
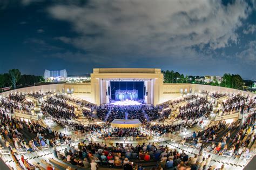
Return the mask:
{"type": "Polygon", "coordinates": [[[0,0],[0,73],[152,67],[256,80],[256,0],[0,0]]]}

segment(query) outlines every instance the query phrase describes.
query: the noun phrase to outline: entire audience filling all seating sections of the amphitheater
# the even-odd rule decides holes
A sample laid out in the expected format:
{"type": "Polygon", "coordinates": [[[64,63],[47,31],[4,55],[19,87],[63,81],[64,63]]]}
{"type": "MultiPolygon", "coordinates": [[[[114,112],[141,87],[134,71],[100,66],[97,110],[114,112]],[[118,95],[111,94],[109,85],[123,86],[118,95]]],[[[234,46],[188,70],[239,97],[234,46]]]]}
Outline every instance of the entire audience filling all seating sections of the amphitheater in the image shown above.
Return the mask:
{"type": "MultiPolygon", "coordinates": [[[[32,93],[31,96],[38,98],[42,93],[32,93]]],[[[218,93],[211,94],[215,98],[220,98],[218,93]]],[[[43,127],[34,121],[18,120],[10,117],[14,110],[30,112],[35,108],[35,104],[25,99],[23,94],[10,94],[2,99],[0,110],[0,133],[5,139],[5,145],[12,151],[14,160],[16,154],[14,148],[26,149],[29,152],[35,152],[42,147],[49,146],[55,148],[62,144],[68,144],[68,147],[62,151],[53,151],[57,159],[67,161],[72,165],[91,167],[97,169],[99,165],[109,167],[122,167],[132,169],[143,167],[140,164],[132,164],[134,160],[139,162],[156,161],[156,169],[177,167],[191,169],[206,169],[210,162],[210,157],[204,158],[201,152],[193,158],[189,158],[183,151],[179,153],[175,149],[167,146],[157,147],[154,144],[126,145],[117,144],[116,147],[107,147],[105,144],[85,144],[79,142],[78,146],[71,146],[71,138],[67,135],[52,131],[50,127],[43,127]]],[[[249,111],[254,106],[254,101],[239,94],[233,95],[223,103],[223,112],[231,111],[249,111]]],[[[111,137],[124,138],[132,140],[142,137],[159,137],[166,133],[173,133],[181,130],[181,127],[190,128],[199,122],[199,118],[208,117],[213,111],[213,104],[209,103],[206,97],[190,95],[179,100],[175,100],[156,107],[152,105],[136,106],[114,106],[102,105],[96,107],[91,103],[83,103],[75,99],[68,99],[63,96],[50,97],[41,104],[41,111],[44,115],[51,115],[53,120],[64,129],[72,127],[73,131],[86,134],[88,137],[97,137],[107,140],[111,137]],[[103,124],[82,125],[75,123],[72,119],[77,119],[75,113],[76,107],[67,104],[66,101],[72,101],[81,107],[85,117],[92,113],[90,108],[96,108],[97,117],[105,121],[103,124]],[[186,101],[186,104],[179,106],[176,119],[181,120],[177,125],[150,124],[150,121],[164,120],[172,113],[172,108],[165,111],[164,108],[174,107],[177,104],[186,101]],[[117,128],[112,127],[110,123],[113,119],[139,119],[143,126],[140,128],[117,128]]],[[[191,142],[198,148],[206,148],[208,152],[225,155],[232,154],[240,157],[242,153],[249,153],[250,146],[255,140],[254,134],[255,113],[248,115],[245,121],[240,120],[227,124],[224,120],[207,127],[203,132],[194,132],[191,142]]],[[[187,139],[182,142],[185,143],[187,139]]],[[[17,159],[18,160],[18,159],[17,159]]],[[[22,161],[25,167],[31,166],[26,160],[22,161]]],[[[17,164],[18,161],[17,161],[17,164]]]]}

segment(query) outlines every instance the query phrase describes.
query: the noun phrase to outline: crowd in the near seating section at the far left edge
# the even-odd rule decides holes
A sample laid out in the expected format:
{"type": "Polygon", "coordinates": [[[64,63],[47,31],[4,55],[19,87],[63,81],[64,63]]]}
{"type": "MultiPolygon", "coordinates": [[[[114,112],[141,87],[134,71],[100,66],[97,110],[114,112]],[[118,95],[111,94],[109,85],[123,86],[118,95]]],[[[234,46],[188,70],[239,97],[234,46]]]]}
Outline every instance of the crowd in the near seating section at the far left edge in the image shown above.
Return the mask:
{"type": "MultiPolygon", "coordinates": [[[[5,105],[2,105],[0,110],[0,123],[1,139],[11,151],[17,169],[23,167],[17,157],[19,149],[36,152],[42,147],[54,147],[62,141],[68,143],[71,140],[67,135],[52,131],[50,127],[43,127],[34,121],[12,118],[9,108],[5,105]]],[[[27,169],[35,169],[35,166],[32,166],[27,160],[23,160],[23,164],[27,169]]]]}

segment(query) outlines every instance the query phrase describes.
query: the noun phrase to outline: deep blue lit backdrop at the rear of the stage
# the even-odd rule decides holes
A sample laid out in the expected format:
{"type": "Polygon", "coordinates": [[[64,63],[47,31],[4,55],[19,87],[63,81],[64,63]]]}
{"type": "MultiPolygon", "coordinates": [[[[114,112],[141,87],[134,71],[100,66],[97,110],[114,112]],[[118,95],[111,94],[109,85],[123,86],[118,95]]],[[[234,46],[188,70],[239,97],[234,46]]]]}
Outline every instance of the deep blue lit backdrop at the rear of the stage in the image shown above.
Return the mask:
{"type": "MultiPolygon", "coordinates": [[[[113,100],[120,100],[120,97],[118,96],[117,98],[117,95],[116,95],[117,94],[116,92],[118,91],[137,91],[137,96],[133,96],[133,97],[135,97],[136,100],[143,99],[144,81],[111,81],[110,86],[111,86],[111,98],[113,100]]],[[[130,97],[130,96],[127,95],[126,97],[130,97]]]]}

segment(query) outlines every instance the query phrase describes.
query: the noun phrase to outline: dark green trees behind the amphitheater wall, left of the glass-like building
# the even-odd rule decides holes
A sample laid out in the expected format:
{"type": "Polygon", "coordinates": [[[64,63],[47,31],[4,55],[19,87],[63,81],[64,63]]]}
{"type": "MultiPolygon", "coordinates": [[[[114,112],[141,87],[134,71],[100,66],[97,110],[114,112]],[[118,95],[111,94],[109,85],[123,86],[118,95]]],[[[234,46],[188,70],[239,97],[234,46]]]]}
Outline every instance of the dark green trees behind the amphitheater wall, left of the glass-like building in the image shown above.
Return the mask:
{"type": "Polygon", "coordinates": [[[12,69],[8,73],[0,74],[0,88],[12,86],[12,89],[16,89],[39,82],[44,82],[43,76],[22,75],[18,69],[12,69]]]}

